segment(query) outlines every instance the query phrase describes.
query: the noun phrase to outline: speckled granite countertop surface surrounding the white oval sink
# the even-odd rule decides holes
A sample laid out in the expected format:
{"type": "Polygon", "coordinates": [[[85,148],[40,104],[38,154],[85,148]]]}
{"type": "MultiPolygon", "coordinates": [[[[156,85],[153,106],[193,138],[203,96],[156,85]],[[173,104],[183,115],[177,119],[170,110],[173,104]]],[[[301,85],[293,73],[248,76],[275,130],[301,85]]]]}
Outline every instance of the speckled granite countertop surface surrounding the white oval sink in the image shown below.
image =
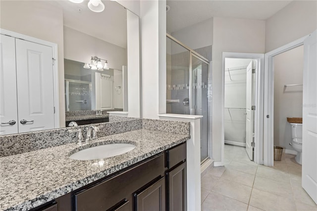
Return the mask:
{"type": "Polygon", "coordinates": [[[105,136],[89,144],[75,143],[0,158],[0,210],[26,211],[111,173],[185,142],[189,135],[147,129],[105,136]],[[69,155],[105,143],[133,143],[125,154],[98,160],[74,160],[69,155]]]}

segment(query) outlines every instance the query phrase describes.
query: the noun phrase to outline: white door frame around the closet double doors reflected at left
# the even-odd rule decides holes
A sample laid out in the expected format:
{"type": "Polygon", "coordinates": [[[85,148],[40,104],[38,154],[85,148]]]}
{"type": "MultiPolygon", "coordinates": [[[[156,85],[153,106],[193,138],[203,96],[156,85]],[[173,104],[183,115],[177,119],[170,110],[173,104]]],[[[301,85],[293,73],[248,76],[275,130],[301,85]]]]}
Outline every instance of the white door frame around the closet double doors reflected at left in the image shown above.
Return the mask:
{"type": "MultiPolygon", "coordinates": [[[[52,47],[52,55],[54,60],[53,65],[53,92],[54,92],[54,128],[59,128],[59,83],[58,83],[58,51],[57,51],[57,44],[51,43],[49,41],[41,40],[38,38],[30,37],[24,34],[20,34],[17,32],[12,32],[6,29],[0,28],[0,33],[3,35],[8,35],[14,38],[22,39],[25,41],[29,41],[32,43],[41,44],[44,46],[52,47]]],[[[64,85],[63,85],[64,86],[64,85]]]]}

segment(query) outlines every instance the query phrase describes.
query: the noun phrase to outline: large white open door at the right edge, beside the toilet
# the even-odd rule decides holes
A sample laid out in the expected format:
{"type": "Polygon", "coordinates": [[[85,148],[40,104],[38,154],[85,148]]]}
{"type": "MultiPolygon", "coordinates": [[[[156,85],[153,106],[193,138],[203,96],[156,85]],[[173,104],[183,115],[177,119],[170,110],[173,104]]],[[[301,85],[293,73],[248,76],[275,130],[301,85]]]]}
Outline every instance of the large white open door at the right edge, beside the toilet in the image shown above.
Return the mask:
{"type": "Polygon", "coordinates": [[[302,186],[317,204],[317,31],[304,41],[302,186]]]}

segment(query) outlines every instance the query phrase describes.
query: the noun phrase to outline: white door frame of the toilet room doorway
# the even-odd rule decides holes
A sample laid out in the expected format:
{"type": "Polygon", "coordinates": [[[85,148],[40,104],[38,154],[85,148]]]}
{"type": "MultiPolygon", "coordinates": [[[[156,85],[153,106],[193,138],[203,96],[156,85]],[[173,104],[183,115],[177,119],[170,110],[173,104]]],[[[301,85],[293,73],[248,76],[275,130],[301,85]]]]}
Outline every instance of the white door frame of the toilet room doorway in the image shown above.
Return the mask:
{"type": "Polygon", "coordinates": [[[274,56],[304,45],[304,40],[308,36],[264,54],[263,161],[267,166],[274,164],[274,56]]]}

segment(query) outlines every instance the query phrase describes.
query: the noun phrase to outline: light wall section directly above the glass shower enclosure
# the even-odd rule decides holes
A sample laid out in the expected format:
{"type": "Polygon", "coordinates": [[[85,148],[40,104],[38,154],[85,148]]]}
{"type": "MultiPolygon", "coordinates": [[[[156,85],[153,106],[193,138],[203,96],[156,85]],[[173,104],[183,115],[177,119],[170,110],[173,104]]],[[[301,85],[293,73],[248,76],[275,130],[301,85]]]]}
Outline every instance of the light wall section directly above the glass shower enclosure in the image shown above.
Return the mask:
{"type": "Polygon", "coordinates": [[[213,18],[183,28],[171,35],[191,49],[212,45],[213,18]]]}

